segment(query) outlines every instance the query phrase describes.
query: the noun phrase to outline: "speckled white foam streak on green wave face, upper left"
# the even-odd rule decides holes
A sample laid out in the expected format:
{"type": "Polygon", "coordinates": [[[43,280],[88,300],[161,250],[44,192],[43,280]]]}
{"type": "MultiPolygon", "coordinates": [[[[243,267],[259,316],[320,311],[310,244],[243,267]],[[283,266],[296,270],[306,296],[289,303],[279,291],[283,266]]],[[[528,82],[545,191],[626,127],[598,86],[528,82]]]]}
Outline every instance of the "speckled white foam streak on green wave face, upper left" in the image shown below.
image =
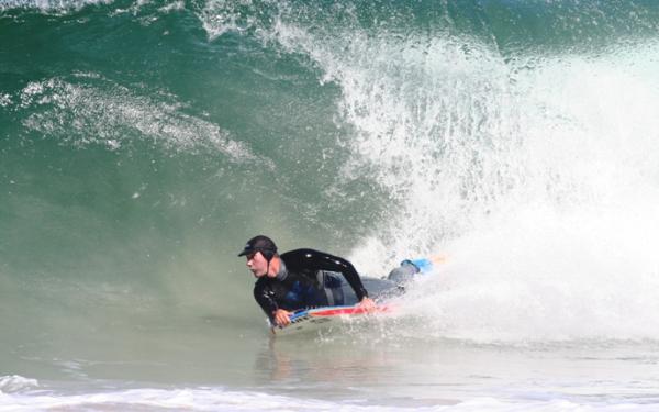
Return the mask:
{"type": "MultiPolygon", "coordinates": [[[[80,76],[89,78],[88,74],[80,76]]],[[[21,107],[33,107],[35,113],[23,124],[80,146],[97,144],[118,149],[130,143],[136,132],[170,149],[192,152],[205,147],[236,162],[257,158],[214,123],[186,113],[186,104],[171,96],[159,93],[160,99],[154,100],[103,79],[97,81],[102,85],[80,85],[60,78],[29,83],[18,100],[21,107]]],[[[263,163],[272,167],[268,159],[263,163]]]]}

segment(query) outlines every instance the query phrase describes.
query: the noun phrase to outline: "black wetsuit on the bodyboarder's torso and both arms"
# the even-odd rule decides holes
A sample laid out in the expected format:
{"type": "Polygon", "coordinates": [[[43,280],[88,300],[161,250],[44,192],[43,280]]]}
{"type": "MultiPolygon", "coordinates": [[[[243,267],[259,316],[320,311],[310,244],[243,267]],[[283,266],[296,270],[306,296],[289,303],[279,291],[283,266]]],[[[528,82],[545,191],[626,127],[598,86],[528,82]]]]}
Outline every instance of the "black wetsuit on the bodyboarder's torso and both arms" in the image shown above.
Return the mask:
{"type": "Polygon", "coordinates": [[[254,298],[270,319],[278,309],[344,304],[340,278],[355,291],[357,301],[368,297],[359,274],[348,260],[313,249],[295,249],[280,256],[277,277],[264,276],[254,286],[254,298]]]}

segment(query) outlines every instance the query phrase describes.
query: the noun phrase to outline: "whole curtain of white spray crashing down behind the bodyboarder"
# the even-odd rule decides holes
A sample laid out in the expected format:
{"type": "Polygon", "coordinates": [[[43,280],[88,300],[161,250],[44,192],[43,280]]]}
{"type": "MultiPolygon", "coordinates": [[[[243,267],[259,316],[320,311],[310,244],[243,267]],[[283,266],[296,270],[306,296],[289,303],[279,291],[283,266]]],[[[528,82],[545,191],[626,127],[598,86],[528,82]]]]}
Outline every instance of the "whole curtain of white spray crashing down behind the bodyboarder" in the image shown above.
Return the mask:
{"type": "Polygon", "coordinates": [[[470,38],[276,30],[342,89],[345,178],[391,193],[354,261],[448,255],[404,298],[432,325],[415,334],[659,339],[656,43],[504,60],[470,38]]]}

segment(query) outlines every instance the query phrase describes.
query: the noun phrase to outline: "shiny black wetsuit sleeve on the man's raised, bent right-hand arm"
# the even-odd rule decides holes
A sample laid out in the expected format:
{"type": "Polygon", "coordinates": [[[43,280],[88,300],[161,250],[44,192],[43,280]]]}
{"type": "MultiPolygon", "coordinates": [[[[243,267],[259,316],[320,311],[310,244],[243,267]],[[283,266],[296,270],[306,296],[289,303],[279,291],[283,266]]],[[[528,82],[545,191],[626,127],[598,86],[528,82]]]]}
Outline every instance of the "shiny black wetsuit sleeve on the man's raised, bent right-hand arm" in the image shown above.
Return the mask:
{"type": "Polygon", "coordinates": [[[357,294],[357,300],[368,297],[368,292],[361,283],[359,274],[351,263],[343,257],[333,256],[324,252],[313,249],[297,249],[281,255],[287,266],[295,269],[338,271],[346,278],[348,285],[357,294]]]}

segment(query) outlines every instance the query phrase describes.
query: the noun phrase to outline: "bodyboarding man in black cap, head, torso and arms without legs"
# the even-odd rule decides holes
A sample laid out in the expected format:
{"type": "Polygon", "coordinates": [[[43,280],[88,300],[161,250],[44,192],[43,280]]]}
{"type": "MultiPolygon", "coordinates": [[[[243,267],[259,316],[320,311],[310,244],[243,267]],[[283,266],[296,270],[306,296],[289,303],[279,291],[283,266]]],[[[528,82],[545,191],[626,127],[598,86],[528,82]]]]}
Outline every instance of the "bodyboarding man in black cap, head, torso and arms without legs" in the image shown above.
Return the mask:
{"type": "Polygon", "coordinates": [[[291,311],[349,301],[337,272],[355,292],[358,305],[367,310],[376,303],[348,260],[313,249],[295,249],[279,255],[277,245],[267,236],[250,238],[238,256],[247,257],[247,267],[257,278],[254,298],[272,324],[288,325],[291,311]]]}

